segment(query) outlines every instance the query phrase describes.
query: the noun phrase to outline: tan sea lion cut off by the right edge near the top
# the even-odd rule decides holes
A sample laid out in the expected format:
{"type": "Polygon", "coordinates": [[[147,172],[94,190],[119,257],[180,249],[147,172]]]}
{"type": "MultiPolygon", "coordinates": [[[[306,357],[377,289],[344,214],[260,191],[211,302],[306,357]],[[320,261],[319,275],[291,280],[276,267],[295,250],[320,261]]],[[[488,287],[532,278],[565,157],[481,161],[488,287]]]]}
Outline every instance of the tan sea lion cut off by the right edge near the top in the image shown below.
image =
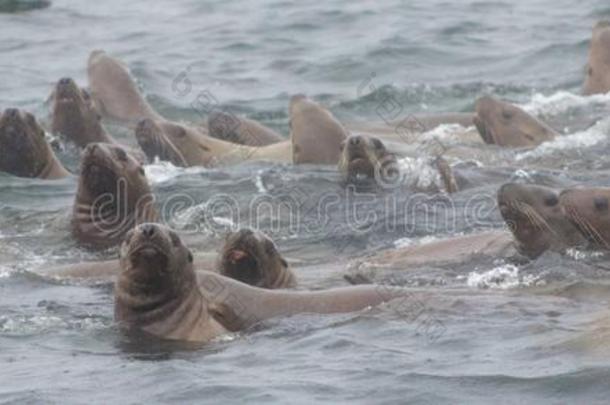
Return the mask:
{"type": "Polygon", "coordinates": [[[583,93],[588,96],[609,91],[610,21],[599,21],[593,27],[583,93]]]}

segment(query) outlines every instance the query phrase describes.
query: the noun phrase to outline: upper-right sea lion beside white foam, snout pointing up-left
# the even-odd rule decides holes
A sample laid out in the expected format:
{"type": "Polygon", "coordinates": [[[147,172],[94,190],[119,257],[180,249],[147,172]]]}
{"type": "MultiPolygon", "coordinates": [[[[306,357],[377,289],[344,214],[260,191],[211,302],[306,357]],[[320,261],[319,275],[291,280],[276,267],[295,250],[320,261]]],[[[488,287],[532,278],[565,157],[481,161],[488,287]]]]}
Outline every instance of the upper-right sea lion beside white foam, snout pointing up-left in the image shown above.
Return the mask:
{"type": "Polygon", "coordinates": [[[473,119],[481,138],[488,144],[534,147],[559,136],[555,130],[521,108],[483,96],[475,104],[473,119]]]}

